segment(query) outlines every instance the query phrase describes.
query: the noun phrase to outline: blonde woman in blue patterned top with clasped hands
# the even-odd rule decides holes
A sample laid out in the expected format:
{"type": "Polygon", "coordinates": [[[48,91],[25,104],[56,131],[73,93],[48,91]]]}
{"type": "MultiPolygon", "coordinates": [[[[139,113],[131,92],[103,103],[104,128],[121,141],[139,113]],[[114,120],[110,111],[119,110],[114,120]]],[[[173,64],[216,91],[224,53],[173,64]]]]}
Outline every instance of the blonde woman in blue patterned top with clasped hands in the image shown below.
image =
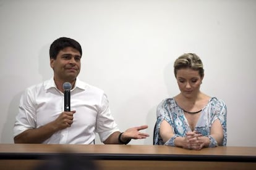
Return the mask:
{"type": "Polygon", "coordinates": [[[226,105],[200,91],[203,63],[196,54],[184,54],[174,62],[178,95],[157,108],[154,145],[192,150],[226,146],[226,105]]]}

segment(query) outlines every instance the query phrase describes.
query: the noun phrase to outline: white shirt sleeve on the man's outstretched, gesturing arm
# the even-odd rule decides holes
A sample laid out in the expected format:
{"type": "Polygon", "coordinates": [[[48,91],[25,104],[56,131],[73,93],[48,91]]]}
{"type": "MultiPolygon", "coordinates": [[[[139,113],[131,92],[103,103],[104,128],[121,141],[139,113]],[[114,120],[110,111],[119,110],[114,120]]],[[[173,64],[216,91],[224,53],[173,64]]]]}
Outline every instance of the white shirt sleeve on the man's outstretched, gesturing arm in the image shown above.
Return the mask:
{"type": "Polygon", "coordinates": [[[119,131],[114,121],[111,111],[109,110],[109,102],[106,94],[101,98],[101,105],[96,120],[96,132],[100,136],[101,142],[104,142],[113,132],[119,131]]]}

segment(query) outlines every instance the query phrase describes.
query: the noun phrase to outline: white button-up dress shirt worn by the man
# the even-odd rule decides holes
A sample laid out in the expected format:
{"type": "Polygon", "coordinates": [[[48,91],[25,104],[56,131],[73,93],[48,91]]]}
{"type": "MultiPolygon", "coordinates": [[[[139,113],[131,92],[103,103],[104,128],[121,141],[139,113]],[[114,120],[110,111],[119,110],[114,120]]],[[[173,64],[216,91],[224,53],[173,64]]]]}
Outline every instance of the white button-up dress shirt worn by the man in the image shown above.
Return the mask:
{"type": "MultiPolygon", "coordinates": [[[[76,111],[72,125],[56,132],[43,144],[93,144],[95,132],[103,142],[113,132],[119,131],[111,116],[106,94],[79,79],[70,91],[70,110],[76,111]]],[[[64,94],[57,89],[53,78],[28,87],[20,99],[14,136],[54,121],[62,111],[64,94]]]]}

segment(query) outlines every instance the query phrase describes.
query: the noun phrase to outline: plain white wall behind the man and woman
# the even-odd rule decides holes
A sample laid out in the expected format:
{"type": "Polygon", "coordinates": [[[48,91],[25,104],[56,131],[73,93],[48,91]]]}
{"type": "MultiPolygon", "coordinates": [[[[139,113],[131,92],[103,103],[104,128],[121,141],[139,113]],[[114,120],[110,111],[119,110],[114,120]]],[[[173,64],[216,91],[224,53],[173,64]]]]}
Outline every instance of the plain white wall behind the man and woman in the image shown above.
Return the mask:
{"type": "MultiPolygon", "coordinates": [[[[48,49],[61,36],[83,47],[79,78],[104,89],[119,128],[148,124],[179,93],[173,62],[194,52],[202,91],[228,105],[228,145],[256,147],[256,1],[0,1],[0,142],[12,143],[20,95],[51,78],[48,49]]],[[[97,144],[99,141],[97,140],[97,144]]]]}

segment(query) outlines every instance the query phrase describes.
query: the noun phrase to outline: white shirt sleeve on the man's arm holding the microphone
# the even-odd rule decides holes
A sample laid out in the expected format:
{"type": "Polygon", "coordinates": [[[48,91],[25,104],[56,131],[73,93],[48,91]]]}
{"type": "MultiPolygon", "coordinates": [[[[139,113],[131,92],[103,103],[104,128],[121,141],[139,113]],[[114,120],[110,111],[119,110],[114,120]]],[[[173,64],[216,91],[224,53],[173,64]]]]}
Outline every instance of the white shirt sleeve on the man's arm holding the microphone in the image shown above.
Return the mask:
{"type": "Polygon", "coordinates": [[[14,137],[36,127],[36,111],[32,92],[28,89],[20,98],[19,113],[15,118],[14,137]]]}

